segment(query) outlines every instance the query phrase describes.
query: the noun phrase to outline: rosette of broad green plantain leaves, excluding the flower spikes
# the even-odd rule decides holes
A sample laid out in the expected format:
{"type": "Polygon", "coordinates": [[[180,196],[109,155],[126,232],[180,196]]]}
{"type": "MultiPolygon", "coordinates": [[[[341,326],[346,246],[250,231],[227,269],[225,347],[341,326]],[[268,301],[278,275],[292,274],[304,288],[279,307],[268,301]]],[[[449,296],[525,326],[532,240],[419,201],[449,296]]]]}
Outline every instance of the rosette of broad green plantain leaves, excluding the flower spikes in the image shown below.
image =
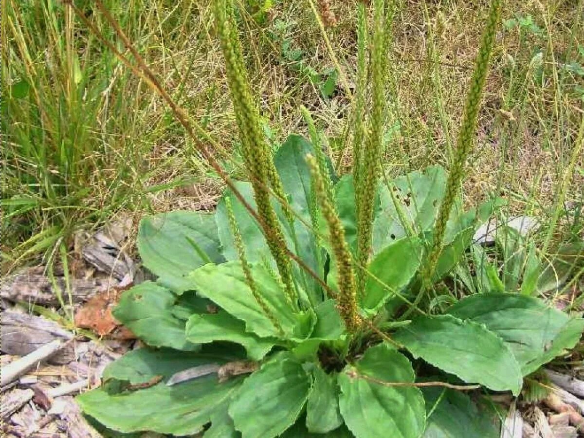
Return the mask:
{"type": "MultiPolygon", "coordinates": [[[[307,227],[312,196],[307,154],[314,154],[311,143],[292,135],[274,157],[297,212],[294,237],[275,201],[274,208],[288,244],[336,291],[326,236],[318,238],[324,228],[307,227]]],[[[352,176],[331,175],[331,180],[354,253],[352,176]]],[[[111,364],[103,387],[78,397],[79,404],[122,433],[369,438],[459,437],[464,430],[464,436],[498,436],[498,417],[480,400],[449,388],[416,385],[431,378],[517,395],[524,376],[575,345],[583,322],[538,298],[496,291],[434,312],[422,301],[419,311],[401,321],[421,287],[420,267],[445,185],[446,173],[437,166],[378,185],[370,275],[359,300],[361,318],[371,325],[362,324],[354,333],[347,332],[325,288],[297,266],[300,303],[299,310],[292,310],[262,232],[234,193],[224,194],[214,214],[173,211],[144,218],[138,249],[158,279],[126,291],[114,315],[147,347],[111,364]],[[256,293],[271,315],[246,282],[228,199],[256,293]],[[400,216],[409,223],[402,224],[400,216]],[[415,234],[408,235],[408,229],[415,234]],[[185,369],[220,369],[239,361],[253,361],[256,370],[221,382],[211,373],[166,384],[185,369]]],[[[253,205],[251,185],[239,182],[237,189],[253,205]]],[[[450,275],[495,206],[451,214],[434,282],[450,275]]]]}

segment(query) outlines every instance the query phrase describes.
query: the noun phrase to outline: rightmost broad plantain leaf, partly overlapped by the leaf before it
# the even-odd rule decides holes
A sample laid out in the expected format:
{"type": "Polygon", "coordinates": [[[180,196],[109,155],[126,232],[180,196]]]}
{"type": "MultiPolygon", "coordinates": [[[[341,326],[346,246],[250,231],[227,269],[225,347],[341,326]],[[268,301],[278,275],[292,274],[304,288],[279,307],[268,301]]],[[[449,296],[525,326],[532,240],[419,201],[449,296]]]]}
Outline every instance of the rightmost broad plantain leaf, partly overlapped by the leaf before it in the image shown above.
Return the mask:
{"type": "Polygon", "coordinates": [[[570,349],[579,339],[584,328],[582,319],[573,319],[538,298],[512,293],[486,293],[473,295],[458,301],[449,314],[485,325],[502,338],[522,367],[523,375],[537,370],[553,359],[550,351],[559,354],[570,349]],[[577,327],[580,326],[579,333],[577,327]]]}

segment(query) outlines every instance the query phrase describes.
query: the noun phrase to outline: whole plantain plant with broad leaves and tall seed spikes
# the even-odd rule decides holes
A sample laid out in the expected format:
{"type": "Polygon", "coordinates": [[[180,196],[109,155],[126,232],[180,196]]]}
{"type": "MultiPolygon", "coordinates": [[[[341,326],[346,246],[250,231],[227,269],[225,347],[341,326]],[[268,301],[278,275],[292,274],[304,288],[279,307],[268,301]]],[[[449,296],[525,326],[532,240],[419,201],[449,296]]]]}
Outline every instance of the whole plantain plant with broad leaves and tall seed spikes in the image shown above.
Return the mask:
{"type": "Polygon", "coordinates": [[[213,214],[142,220],[138,249],[157,279],[126,291],[114,315],[146,346],[78,397],[97,422],[206,438],[497,437],[504,413],[488,394],[519,395],[525,376],[578,342],[584,321],[539,298],[448,286],[501,203],[462,211],[458,196],[500,0],[450,172],[391,181],[380,145],[392,8],[371,7],[368,35],[359,5],[355,166],[339,176],[305,109],[311,141],[291,135],[272,157],[231,2],[213,0],[249,182],[232,183],[213,214]]]}

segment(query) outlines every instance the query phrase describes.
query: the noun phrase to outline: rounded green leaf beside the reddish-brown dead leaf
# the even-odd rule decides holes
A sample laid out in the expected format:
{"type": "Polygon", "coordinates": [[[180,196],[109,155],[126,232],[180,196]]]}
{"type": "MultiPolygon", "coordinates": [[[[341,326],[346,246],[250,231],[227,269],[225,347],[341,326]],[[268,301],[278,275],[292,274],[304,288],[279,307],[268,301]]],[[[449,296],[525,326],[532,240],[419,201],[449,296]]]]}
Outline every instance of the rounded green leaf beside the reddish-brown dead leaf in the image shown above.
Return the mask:
{"type": "Polygon", "coordinates": [[[185,321],[175,317],[176,296],[152,281],[124,292],[113,315],[148,345],[177,350],[196,350],[199,345],[185,337],[185,321]]]}

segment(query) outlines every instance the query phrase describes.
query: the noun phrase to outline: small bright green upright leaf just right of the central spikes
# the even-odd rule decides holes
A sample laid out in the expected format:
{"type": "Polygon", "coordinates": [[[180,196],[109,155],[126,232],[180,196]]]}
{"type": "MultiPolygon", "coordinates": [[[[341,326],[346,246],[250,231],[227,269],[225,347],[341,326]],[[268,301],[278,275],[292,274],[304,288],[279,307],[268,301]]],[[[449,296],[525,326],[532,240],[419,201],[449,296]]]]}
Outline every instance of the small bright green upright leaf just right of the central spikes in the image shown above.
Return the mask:
{"type": "Polygon", "coordinates": [[[399,239],[379,252],[369,265],[373,277],[367,277],[361,307],[376,312],[395,292],[407,286],[418,271],[421,258],[422,242],[417,237],[399,239]]]}

